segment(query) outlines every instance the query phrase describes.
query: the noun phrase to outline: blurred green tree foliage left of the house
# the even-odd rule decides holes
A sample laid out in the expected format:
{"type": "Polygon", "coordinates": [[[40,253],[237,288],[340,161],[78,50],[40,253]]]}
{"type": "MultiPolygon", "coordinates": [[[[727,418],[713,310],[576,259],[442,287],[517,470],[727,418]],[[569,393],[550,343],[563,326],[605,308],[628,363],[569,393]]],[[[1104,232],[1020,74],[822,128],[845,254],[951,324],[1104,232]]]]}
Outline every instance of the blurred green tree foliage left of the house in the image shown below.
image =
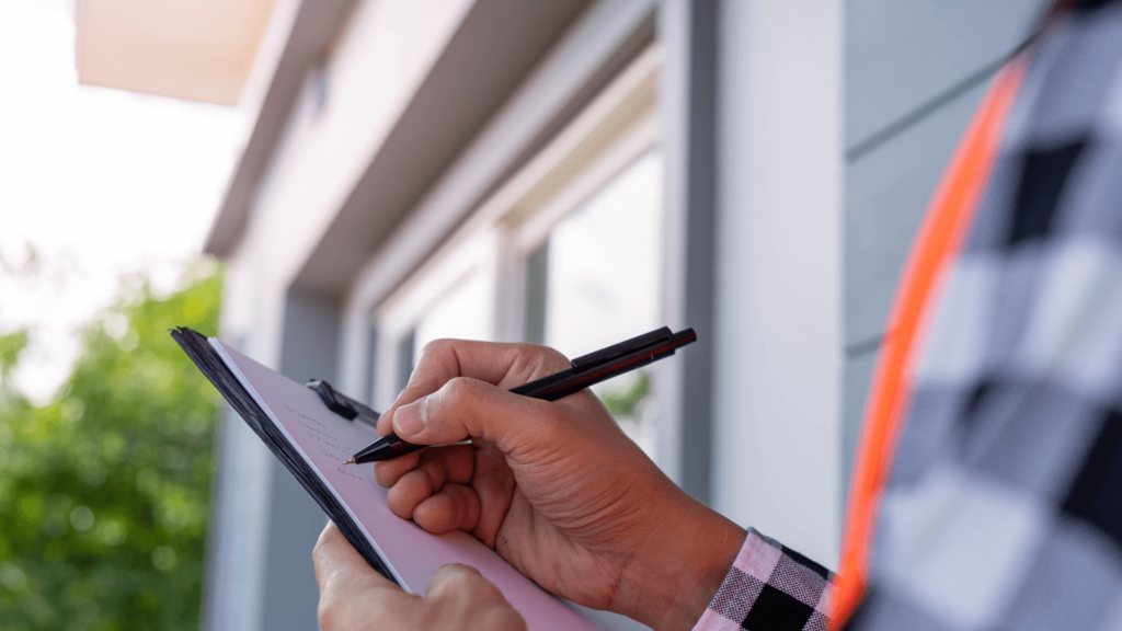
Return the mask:
{"type": "Polygon", "coordinates": [[[220,289],[141,283],[45,405],[11,384],[27,336],[0,336],[0,628],[199,628],[219,396],[167,330],[214,331],[220,289]]]}

